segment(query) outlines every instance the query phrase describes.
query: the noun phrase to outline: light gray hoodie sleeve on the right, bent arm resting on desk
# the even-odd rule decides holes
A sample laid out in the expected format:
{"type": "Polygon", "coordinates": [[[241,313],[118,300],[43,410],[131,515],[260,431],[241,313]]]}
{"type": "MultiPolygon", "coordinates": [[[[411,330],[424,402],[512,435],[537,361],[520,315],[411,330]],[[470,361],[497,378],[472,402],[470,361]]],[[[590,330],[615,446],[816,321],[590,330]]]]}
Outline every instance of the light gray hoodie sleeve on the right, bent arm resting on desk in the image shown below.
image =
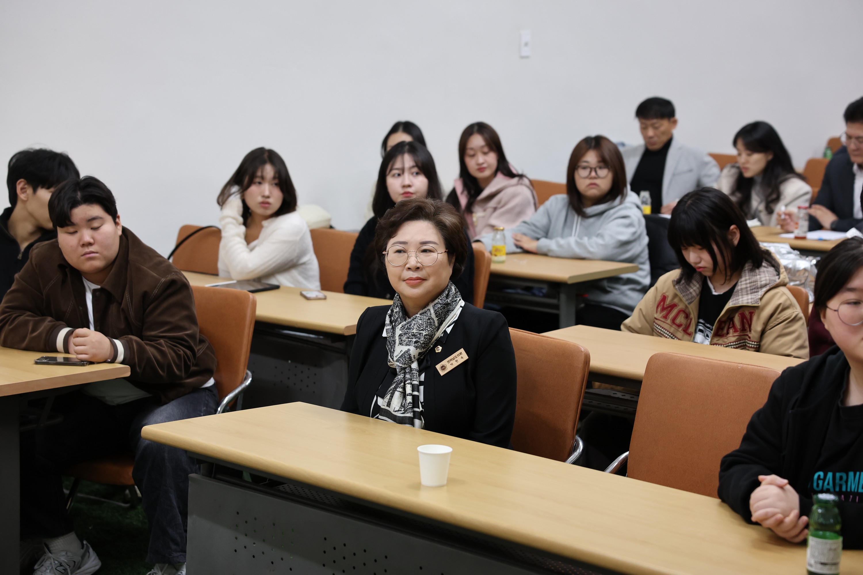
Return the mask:
{"type": "Polygon", "coordinates": [[[537,252],[556,258],[633,261],[643,248],[639,239],[646,234],[641,210],[627,202],[607,214],[608,218],[602,220],[602,228],[596,234],[545,238],[539,240],[537,252]]]}

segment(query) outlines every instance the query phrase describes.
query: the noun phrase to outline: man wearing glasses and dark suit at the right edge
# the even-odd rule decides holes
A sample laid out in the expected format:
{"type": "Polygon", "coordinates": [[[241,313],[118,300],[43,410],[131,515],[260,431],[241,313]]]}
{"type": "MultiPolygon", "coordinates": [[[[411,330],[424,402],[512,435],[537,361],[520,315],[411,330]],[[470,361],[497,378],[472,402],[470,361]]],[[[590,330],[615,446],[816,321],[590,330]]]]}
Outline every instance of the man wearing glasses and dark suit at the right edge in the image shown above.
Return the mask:
{"type": "Polygon", "coordinates": [[[830,160],[818,197],[809,208],[809,229],[847,232],[863,223],[863,97],[845,109],[844,146],[830,160]]]}

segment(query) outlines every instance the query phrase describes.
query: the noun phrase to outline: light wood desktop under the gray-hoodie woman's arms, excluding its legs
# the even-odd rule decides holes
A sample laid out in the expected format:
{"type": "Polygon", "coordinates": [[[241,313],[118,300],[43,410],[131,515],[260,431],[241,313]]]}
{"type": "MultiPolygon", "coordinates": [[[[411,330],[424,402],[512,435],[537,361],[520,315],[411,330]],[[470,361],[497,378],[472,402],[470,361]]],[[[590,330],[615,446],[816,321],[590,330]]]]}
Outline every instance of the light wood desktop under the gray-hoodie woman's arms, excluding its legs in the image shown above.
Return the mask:
{"type": "Polygon", "coordinates": [[[557,284],[578,284],[638,271],[636,264],[602,259],[552,258],[539,253],[508,253],[505,263],[491,265],[491,272],[496,275],[557,284]]]}

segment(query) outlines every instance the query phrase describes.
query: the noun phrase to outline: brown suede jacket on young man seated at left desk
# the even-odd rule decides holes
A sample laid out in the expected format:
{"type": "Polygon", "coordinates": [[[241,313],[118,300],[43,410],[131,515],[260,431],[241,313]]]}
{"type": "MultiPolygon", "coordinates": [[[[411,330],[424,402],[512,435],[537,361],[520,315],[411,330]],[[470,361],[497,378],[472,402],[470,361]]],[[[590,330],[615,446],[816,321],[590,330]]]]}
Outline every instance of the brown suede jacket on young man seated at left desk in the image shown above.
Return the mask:
{"type": "MultiPolygon", "coordinates": [[[[216,356],[198,331],[189,282],[129,228],[92,299],[93,327],[111,339],[110,360],[129,366],[135,387],[167,403],[210,380],[216,356]]],[[[89,327],[81,274],[57,240],[33,247],[0,305],[0,346],[66,352],[73,329],[89,327]]]]}

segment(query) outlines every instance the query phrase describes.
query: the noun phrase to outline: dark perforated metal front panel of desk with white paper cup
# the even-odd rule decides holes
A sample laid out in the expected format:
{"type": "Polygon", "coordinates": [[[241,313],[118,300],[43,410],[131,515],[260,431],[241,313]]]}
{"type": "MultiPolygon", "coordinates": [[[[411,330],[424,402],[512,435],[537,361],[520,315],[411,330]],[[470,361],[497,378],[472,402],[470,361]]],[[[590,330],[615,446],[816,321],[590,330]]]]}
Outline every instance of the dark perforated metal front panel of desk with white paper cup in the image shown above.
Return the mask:
{"type": "MultiPolygon", "coordinates": [[[[363,521],[337,497],[287,486],[310,504],[192,475],[189,490],[189,575],[356,573],[467,575],[549,572],[452,547],[406,528],[363,521]],[[298,491],[299,490],[299,491],[298,491]],[[323,498],[322,498],[323,497],[323,498]]],[[[461,547],[461,548],[459,548],[461,547]]],[[[554,562],[551,572],[591,573],[554,562]],[[563,567],[563,568],[562,568],[563,567]]]]}

